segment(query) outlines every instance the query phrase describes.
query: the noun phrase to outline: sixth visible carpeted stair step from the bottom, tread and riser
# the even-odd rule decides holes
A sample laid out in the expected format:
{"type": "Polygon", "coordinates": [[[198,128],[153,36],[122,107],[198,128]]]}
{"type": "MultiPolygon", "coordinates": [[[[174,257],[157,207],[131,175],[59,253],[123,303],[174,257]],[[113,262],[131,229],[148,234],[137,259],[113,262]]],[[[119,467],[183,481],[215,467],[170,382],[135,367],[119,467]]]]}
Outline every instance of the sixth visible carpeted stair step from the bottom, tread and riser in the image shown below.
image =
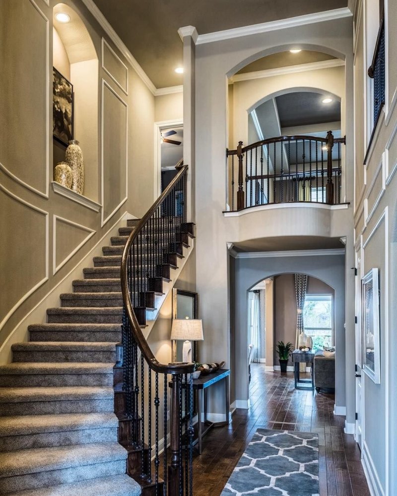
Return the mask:
{"type": "Polygon", "coordinates": [[[106,362],[115,363],[116,343],[27,342],[12,345],[13,362],[106,362]]]}

